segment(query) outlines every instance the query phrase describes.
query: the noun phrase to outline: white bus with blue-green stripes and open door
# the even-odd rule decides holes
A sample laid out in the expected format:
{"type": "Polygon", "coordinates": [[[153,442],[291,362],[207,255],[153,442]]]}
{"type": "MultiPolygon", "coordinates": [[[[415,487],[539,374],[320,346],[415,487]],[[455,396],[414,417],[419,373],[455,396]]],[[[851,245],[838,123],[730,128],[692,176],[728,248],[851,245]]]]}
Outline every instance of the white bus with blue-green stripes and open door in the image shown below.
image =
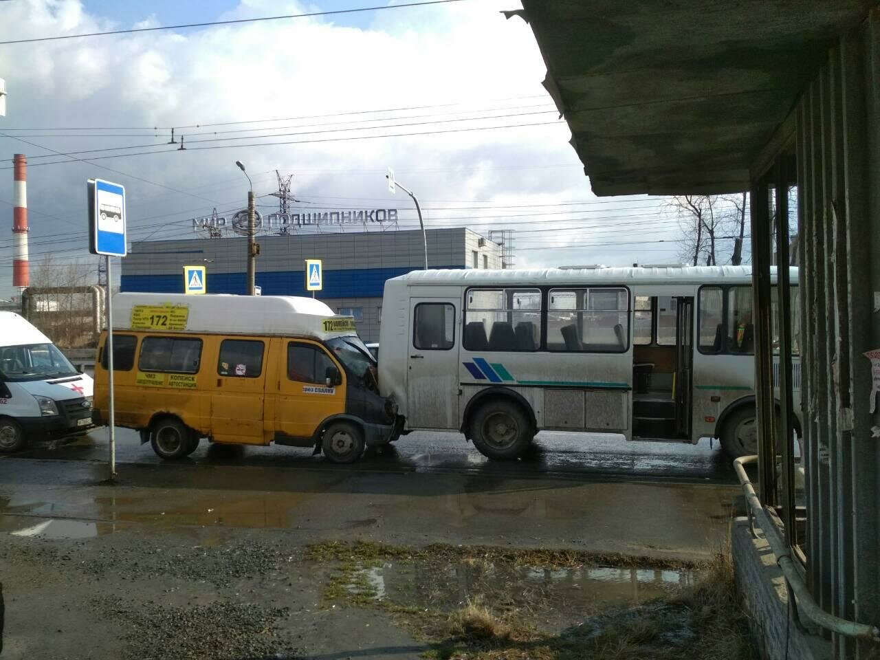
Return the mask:
{"type": "MultiPolygon", "coordinates": [[[[414,271],[385,282],[379,344],[405,432],[457,430],[489,458],[542,429],[757,451],[750,267],[414,271]]],[[[797,356],[792,373],[798,411],[797,356]]]]}

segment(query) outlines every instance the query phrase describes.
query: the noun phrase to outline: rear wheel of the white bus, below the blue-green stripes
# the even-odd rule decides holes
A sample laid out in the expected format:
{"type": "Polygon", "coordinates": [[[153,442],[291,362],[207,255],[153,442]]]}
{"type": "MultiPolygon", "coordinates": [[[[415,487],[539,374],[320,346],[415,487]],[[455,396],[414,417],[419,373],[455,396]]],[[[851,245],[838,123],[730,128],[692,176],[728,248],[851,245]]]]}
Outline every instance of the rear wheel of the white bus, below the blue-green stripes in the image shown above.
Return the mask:
{"type": "Polygon", "coordinates": [[[508,400],[488,401],[477,409],[471,422],[473,446],[488,458],[519,458],[534,436],[523,408],[508,400]]]}

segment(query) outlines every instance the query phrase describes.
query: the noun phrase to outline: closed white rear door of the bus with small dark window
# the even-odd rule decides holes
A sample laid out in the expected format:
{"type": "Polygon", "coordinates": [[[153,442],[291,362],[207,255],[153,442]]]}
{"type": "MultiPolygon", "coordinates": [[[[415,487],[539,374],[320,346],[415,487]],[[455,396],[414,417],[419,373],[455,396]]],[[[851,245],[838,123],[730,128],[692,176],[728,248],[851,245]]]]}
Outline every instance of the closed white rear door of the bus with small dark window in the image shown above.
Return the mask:
{"type": "MultiPolygon", "coordinates": [[[[407,425],[458,429],[458,314],[449,298],[411,297],[407,347],[407,425]]],[[[383,348],[389,350],[389,348],[383,348]]]]}

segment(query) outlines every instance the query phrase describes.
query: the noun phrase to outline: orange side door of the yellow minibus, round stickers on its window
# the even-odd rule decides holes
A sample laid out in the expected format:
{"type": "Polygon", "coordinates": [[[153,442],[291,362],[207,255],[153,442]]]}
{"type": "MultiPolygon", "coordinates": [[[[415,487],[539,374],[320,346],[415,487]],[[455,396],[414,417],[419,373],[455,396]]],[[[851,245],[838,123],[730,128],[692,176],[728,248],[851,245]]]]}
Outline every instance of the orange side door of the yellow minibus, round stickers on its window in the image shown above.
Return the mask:
{"type": "MultiPolygon", "coordinates": [[[[211,436],[218,443],[266,444],[263,389],[268,341],[224,339],[211,394],[211,436]]],[[[207,369],[206,369],[207,370],[207,369]]]]}

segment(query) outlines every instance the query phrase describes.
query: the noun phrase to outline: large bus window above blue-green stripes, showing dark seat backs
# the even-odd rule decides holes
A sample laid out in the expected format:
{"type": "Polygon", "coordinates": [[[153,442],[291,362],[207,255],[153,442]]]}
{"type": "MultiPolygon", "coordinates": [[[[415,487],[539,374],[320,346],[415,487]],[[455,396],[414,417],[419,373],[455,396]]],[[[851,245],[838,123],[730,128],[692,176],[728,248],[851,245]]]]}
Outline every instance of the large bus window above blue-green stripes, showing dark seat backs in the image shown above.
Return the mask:
{"type": "Polygon", "coordinates": [[[467,291],[466,350],[533,351],[541,344],[541,292],[537,289],[467,291]]]}

